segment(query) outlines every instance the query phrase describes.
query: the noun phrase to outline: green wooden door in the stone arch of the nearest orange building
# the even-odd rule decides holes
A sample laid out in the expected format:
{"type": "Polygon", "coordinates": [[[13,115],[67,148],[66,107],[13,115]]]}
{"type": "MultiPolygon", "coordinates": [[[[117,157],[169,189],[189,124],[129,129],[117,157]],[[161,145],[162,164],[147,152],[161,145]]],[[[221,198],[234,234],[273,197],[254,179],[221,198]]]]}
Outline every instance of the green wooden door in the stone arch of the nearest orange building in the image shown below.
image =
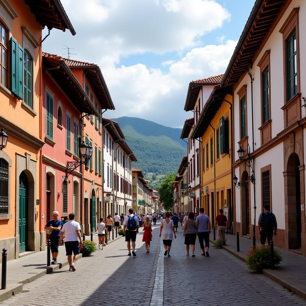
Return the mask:
{"type": "Polygon", "coordinates": [[[24,172],[19,176],[19,252],[27,248],[28,232],[28,179],[24,172]]]}

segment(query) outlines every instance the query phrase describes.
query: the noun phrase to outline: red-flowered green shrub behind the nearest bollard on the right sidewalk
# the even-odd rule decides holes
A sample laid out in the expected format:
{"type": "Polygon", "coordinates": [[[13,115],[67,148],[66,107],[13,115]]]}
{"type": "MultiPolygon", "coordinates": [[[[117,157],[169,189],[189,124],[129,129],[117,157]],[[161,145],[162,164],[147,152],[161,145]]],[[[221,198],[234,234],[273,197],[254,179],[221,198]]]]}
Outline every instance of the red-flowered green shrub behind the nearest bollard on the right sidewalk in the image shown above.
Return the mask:
{"type": "MultiPolygon", "coordinates": [[[[270,267],[270,245],[261,245],[260,247],[251,247],[250,251],[246,253],[246,264],[249,271],[259,272],[263,268],[270,267]]],[[[274,248],[274,265],[279,265],[283,260],[281,252],[274,248]]]]}

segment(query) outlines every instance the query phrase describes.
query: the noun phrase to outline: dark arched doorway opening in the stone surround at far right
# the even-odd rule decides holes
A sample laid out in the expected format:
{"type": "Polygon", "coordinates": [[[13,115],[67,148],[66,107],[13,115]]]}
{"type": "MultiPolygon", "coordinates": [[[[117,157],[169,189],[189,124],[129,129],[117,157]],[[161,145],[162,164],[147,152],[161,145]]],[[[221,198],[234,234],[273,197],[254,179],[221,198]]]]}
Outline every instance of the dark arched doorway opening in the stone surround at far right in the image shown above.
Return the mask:
{"type": "Polygon", "coordinates": [[[288,231],[288,248],[301,247],[301,182],[300,159],[292,153],[285,171],[285,229],[288,231]]]}

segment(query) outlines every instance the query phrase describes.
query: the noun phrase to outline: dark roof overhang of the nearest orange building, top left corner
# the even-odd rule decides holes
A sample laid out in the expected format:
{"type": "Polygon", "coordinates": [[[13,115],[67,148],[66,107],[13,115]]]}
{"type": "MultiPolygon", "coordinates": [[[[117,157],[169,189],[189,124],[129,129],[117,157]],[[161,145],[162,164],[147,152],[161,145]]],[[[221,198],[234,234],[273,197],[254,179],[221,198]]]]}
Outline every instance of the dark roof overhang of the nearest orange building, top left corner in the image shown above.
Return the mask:
{"type": "Polygon", "coordinates": [[[68,29],[72,35],[76,34],[60,0],[24,0],[24,2],[42,27],[64,32],[68,29]]]}

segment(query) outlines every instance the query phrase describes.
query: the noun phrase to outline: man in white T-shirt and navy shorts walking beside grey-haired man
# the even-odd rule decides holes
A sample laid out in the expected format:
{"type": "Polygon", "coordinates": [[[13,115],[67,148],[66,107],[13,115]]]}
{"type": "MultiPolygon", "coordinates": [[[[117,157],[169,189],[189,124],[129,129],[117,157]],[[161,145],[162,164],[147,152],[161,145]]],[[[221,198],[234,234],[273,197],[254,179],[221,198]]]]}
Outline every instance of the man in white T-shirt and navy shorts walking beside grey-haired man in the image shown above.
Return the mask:
{"type": "Polygon", "coordinates": [[[69,271],[76,271],[75,263],[80,254],[80,247],[82,248],[82,236],[81,236],[81,226],[79,222],[75,221],[75,214],[69,214],[69,221],[66,222],[61,231],[61,236],[59,238],[59,245],[61,245],[62,237],[65,233],[65,248],[66,255],[68,257],[69,271]],[[80,242],[78,241],[80,239],[80,242]],[[73,260],[72,260],[73,252],[73,260]]]}

